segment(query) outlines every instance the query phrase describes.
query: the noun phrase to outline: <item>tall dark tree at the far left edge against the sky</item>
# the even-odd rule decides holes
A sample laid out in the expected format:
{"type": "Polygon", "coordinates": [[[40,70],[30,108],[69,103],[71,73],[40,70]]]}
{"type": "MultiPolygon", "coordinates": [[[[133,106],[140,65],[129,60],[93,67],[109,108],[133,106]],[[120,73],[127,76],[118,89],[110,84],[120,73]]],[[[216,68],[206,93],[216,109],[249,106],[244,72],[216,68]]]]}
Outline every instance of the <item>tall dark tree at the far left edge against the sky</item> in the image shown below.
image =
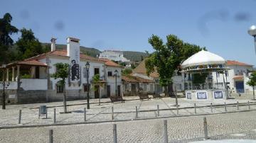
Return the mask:
{"type": "Polygon", "coordinates": [[[3,18],[0,18],[0,63],[9,62],[6,52],[14,44],[14,40],[11,39],[10,35],[18,33],[18,29],[11,25],[11,21],[10,13],[6,13],[3,18]]]}

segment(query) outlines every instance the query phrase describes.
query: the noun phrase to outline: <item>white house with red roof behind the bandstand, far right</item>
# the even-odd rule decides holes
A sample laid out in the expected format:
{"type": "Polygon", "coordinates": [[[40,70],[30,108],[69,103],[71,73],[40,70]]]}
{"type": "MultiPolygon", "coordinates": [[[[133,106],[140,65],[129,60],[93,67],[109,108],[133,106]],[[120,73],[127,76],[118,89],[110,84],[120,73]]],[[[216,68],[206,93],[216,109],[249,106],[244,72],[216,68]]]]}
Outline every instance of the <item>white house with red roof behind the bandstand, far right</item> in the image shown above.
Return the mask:
{"type": "Polygon", "coordinates": [[[253,71],[253,65],[227,60],[226,67],[229,68],[226,73],[216,74],[216,72],[213,72],[214,88],[224,88],[224,83],[228,83],[230,91],[233,93],[251,93],[252,87],[246,83],[249,81],[250,72],[253,71]]]}

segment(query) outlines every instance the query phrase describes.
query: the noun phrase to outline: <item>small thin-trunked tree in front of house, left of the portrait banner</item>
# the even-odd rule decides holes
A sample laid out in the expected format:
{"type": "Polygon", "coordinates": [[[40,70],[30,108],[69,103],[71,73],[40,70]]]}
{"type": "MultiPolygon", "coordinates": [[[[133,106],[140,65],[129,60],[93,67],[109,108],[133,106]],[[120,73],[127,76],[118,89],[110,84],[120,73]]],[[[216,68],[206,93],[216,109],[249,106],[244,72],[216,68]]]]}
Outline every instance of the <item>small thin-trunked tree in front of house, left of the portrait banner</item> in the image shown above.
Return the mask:
{"type": "Polygon", "coordinates": [[[54,79],[60,79],[58,83],[60,86],[63,86],[63,107],[64,107],[64,113],[67,113],[67,101],[66,101],[66,95],[65,95],[65,80],[68,78],[69,75],[69,64],[64,63],[57,63],[54,64],[56,67],[56,72],[52,74],[51,76],[54,79]]]}

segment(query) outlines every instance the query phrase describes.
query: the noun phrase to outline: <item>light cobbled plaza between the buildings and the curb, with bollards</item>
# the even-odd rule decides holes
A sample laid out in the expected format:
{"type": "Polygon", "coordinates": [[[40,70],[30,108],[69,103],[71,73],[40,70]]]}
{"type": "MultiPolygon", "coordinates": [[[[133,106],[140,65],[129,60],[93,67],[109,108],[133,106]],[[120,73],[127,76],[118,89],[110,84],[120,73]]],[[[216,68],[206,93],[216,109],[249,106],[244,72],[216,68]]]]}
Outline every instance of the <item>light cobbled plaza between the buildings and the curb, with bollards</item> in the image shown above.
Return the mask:
{"type": "MultiPolygon", "coordinates": [[[[87,122],[110,121],[112,120],[112,107],[114,108],[114,120],[134,120],[135,107],[138,108],[138,118],[163,118],[176,117],[177,115],[201,115],[212,113],[225,113],[223,106],[226,103],[228,112],[238,112],[248,110],[247,100],[245,97],[229,99],[229,100],[215,100],[213,101],[213,112],[210,110],[210,102],[207,101],[188,101],[183,98],[178,99],[179,110],[177,114],[176,106],[174,106],[175,98],[151,99],[149,101],[134,100],[138,97],[125,97],[125,103],[110,103],[109,98],[102,99],[101,105],[98,105],[98,99],[90,100],[90,110],[86,111],[87,122]],[[235,103],[244,103],[239,106],[239,110],[235,107],[235,103]],[[196,113],[193,108],[196,103],[196,113]],[[234,105],[229,105],[233,103],[234,105]],[[159,105],[159,117],[156,111],[156,105],[159,105]],[[222,106],[215,106],[222,105],[222,106]],[[207,107],[206,107],[207,106],[207,107]]],[[[56,109],[56,121],[60,123],[75,123],[84,121],[84,108],[86,101],[68,101],[68,110],[72,113],[60,114],[63,112],[62,102],[55,103],[38,103],[38,104],[23,104],[23,105],[7,105],[6,110],[0,109],[0,128],[5,126],[18,125],[18,110],[22,110],[21,125],[46,125],[53,123],[53,108],[56,109]],[[47,105],[48,118],[41,117],[38,119],[38,107],[40,105],[47,105]],[[56,107],[54,107],[56,106],[56,107]]],[[[256,103],[250,101],[250,109],[256,110],[256,103]]]]}

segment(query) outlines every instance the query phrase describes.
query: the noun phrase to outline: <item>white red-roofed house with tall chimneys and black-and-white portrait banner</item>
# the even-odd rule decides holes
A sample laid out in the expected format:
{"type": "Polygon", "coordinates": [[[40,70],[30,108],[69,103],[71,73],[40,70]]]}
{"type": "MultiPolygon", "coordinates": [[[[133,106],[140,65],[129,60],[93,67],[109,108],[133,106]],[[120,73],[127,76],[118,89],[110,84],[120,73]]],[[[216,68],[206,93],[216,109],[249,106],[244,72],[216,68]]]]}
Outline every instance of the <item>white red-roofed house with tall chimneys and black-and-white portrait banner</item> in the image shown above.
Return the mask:
{"type": "Polygon", "coordinates": [[[51,41],[51,51],[6,65],[6,102],[11,103],[36,103],[46,101],[62,101],[63,87],[58,84],[60,79],[50,77],[55,73],[55,64],[62,62],[70,65],[70,76],[65,84],[67,98],[85,99],[87,89],[87,71],[85,64],[90,63],[89,84],[90,98],[103,98],[115,96],[115,87],[118,96],[122,95],[121,67],[109,59],[97,59],[80,53],[80,40],[67,38],[67,48],[56,50],[55,38],[51,41]],[[117,85],[114,74],[110,71],[117,70],[117,85]],[[92,85],[92,77],[100,75],[103,86],[92,85]],[[92,90],[93,89],[93,90],[92,90]]]}

